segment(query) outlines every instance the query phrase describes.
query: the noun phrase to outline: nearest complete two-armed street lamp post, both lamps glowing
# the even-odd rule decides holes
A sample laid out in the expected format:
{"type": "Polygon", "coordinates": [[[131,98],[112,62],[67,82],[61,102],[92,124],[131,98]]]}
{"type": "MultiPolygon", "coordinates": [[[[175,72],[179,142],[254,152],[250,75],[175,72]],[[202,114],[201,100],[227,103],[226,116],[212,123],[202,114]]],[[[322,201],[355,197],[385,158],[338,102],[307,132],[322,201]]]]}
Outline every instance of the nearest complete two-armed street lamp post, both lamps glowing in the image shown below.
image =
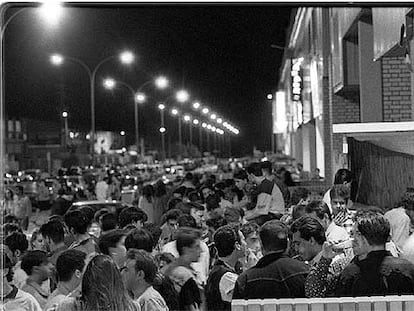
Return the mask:
{"type": "MultiPolygon", "coordinates": [[[[90,88],[90,103],[91,103],[91,141],[90,141],[90,153],[92,158],[92,163],[94,163],[94,144],[95,144],[95,80],[96,80],[96,73],[98,69],[102,66],[102,64],[112,60],[113,58],[116,58],[116,55],[109,56],[107,58],[104,58],[101,60],[93,69],[91,69],[88,65],[86,65],[85,62],[78,58],[74,57],[67,57],[62,56],[60,54],[53,54],[50,57],[50,61],[54,65],[61,65],[64,60],[68,59],[69,61],[72,61],[73,63],[76,63],[80,65],[82,68],[86,70],[89,76],[89,88],[90,88]]],[[[122,64],[131,64],[134,61],[134,54],[132,54],[129,51],[122,52],[119,54],[119,59],[122,64]]]]}

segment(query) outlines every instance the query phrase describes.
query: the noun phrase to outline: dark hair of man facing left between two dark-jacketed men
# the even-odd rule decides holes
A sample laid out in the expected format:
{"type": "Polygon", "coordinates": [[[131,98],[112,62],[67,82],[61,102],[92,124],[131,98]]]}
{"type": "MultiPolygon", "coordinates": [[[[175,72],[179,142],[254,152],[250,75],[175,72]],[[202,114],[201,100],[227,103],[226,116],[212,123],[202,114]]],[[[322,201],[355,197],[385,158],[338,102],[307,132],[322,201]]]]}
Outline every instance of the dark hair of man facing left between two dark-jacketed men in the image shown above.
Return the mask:
{"type": "Polygon", "coordinates": [[[325,229],[319,220],[311,216],[302,216],[297,219],[292,224],[291,231],[292,233],[299,232],[300,237],[306,241],[314,238],[320,245],[326,241],[325,229]]]}

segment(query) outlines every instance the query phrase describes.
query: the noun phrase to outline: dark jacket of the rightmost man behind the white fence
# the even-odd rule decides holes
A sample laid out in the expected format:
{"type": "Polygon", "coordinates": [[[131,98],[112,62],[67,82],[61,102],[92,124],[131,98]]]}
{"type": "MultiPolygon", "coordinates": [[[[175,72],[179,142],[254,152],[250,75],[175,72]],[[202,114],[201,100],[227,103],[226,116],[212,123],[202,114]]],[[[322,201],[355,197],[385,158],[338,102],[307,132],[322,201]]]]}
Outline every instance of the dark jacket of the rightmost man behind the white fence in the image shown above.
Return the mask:
{"type": "Polygon", "coordinates": [[[388,251],[373,251],[352,261],[341,273],[336,296],[414,294],[414,265],[388,251]]]}

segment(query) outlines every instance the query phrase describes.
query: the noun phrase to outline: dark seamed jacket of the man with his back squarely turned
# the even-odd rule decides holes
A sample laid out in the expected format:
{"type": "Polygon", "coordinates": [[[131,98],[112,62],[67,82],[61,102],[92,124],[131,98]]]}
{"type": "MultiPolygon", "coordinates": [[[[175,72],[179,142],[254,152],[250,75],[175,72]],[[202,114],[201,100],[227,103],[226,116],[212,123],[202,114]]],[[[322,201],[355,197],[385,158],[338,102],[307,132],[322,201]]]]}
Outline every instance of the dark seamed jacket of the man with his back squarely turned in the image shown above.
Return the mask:
{"type": "Polygon", "coordinates": [[[304,298],[309,267],[286,254],[265,255],[237,279],[233,299],[304,298]]]}

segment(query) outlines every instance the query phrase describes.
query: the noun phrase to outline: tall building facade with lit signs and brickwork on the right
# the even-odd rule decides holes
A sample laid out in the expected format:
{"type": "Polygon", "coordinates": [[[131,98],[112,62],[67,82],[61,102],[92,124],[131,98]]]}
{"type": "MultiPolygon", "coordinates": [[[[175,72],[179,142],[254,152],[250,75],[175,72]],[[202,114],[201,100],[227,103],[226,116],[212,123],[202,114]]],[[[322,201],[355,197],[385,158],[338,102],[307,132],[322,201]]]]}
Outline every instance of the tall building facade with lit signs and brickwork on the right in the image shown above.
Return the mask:
{"type": "Polygon", "coordinates": [[[292,19],[276,100],[285,152],[328,184],[350,168],[356,199],[368,205],[392,207],[414,186],[412,16],[402,7],[313,7],[292,19]]]}

